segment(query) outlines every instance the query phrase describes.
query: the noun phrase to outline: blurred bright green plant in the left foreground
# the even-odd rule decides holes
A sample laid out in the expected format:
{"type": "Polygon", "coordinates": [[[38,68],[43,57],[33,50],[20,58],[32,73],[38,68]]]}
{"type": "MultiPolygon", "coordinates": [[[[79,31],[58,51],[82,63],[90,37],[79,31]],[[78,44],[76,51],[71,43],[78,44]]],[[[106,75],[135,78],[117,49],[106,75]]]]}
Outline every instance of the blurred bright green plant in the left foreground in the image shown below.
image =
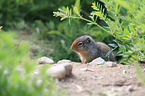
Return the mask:
{"type": "Polygon", "coordinates": [[[38,72],[36,61],[28,56],[28,43],[19,42],[12,32],[0,32],[0,95],[56,96],[48,65],[38,72]]]}

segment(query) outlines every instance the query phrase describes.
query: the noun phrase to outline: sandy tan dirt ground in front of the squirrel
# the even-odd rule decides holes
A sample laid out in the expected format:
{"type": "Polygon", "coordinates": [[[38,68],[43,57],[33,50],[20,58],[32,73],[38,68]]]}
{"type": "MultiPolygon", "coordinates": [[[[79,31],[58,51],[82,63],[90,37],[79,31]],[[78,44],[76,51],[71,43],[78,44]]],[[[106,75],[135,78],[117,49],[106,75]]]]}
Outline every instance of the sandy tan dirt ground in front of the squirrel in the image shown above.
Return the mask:
{"type": "MultiPolygon", "coordinates": [[[[108,67],[76,62],[72,65],[73,75],[56,82],[58,89],[67,90],[63,96],[145,96],[145,86],[134,65],[108,67]]],[[[145,67],[141,70],[145,74],[145,67]]]]}

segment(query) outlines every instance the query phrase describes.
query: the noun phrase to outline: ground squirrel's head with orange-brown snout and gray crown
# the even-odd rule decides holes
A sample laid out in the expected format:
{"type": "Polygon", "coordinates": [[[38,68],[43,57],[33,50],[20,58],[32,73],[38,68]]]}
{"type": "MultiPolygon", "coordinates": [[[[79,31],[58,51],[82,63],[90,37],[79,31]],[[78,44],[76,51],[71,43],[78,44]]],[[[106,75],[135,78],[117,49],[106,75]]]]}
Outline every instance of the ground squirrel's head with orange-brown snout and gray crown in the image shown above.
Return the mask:
{"type": "Polygon", "coordinates": [[[76,52],[87,52],[95,46],[95,41],[88,35],[77,38],[71,45],[71,49],[76,52]]]}

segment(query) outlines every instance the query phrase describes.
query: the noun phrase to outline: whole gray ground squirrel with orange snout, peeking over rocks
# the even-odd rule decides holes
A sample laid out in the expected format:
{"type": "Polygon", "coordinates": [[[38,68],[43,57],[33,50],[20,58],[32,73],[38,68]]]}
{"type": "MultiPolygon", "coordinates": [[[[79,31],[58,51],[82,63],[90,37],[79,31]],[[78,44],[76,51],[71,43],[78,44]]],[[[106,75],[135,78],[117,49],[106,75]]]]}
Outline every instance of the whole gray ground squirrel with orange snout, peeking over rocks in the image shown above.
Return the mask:
{"type": "Polygon", "coordinates": [[[82,63],[89,63],[97,57],[115,61],[113,52],[109,56],[106,56],[111,51],[109,46],[102,42],[95,42],[88,35],[77,38],[70,48],[79,54],[82,63]]]}

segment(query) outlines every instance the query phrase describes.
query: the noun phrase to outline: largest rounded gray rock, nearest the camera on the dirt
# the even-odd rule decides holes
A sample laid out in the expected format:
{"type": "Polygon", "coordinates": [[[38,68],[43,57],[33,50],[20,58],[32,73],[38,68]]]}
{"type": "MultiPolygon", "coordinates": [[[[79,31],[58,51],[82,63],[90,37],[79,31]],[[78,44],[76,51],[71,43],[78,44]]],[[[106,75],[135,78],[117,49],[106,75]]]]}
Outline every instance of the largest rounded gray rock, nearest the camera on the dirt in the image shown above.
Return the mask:
{"type": "Polygon", "coordinates": [[[47,70],[47,74],[56,79],[64,79],[66,76],[70,76],[71,72],[72,65],[69,63],[59,64],[47,70]]]}

